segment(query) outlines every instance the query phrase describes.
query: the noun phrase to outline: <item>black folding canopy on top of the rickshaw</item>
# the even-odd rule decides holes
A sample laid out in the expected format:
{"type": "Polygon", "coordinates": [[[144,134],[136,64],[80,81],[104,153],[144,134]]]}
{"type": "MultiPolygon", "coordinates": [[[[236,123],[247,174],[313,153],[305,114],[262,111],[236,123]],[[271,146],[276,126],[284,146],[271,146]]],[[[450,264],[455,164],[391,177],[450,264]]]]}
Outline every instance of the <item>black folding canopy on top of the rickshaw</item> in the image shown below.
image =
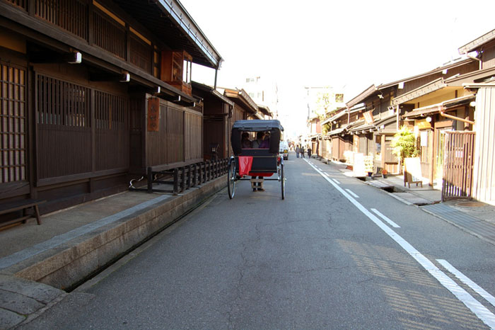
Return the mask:
{"type": "Polygon", "coordinates": [[[270,147],[271,154],[279,153],[280,132],[284,131],[284,127],[279,120],[237,120],[232,126],[232,150],[235,155],[241,154],[240,133],[241,132],[270,132],[270,147]]]}

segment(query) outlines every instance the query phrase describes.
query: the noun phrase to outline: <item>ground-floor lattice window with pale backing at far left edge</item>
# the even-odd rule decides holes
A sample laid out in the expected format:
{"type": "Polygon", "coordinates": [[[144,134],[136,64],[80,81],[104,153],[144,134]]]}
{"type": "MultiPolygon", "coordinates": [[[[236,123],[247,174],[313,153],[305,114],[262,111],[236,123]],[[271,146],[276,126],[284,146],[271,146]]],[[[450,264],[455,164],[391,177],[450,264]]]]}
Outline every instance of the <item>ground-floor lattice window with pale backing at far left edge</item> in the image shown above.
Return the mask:
{"type": "Polygon", "coordinates": [[[25,69],[0,62],[0,183],[25,180],[25,69]]]}

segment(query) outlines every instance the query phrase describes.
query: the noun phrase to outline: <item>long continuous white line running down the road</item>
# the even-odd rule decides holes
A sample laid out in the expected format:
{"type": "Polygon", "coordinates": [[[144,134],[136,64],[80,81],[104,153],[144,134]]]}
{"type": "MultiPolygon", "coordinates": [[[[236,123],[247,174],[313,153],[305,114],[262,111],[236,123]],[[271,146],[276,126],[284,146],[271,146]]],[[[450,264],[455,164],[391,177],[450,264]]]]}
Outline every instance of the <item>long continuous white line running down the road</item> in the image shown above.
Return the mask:
{"type": "MultiPolygon", "coordinates": [[[[308,162],[309,164],[309,162],[308,162]]],[[[311,165],[315,171],[320,173],[320,175],[325,178],[335,189],[337,189],[345,198],[349,200],[358,210],[363,212],[366,217],[370,218],[380,229],[388,234],[388,236],[393,239],[397,244],[399,244],[402,249],[404,249],[414,260],[416,260],[428,273],[430,273],[436,280],[438,280],[441,285],[443,285],[447,290],[449,290],[455,297],[460,300],[467,308],[471,310],[484,324],[487,324],[491,329],[495,329],[495,314],[489,311],[487,307],[484,307],[479,301],[475,300],[472,295],[470,295],[466,290],[462,289],[457,283],[455,283],[451,278],[449,278],[443,271],[441,271],[437,266],[435,266],[428,258],[423,256],[414,246],[409,244],[405,239],[400,237],[396,232],[394,232],[390,227],[380,221],[378,217],[375,217],[373,213],[368,211],[366,207],[361,205],[357,200],[351,197],[344,189],[337,186],[336,183],[327,178],[321,171],[311,165]]]]}

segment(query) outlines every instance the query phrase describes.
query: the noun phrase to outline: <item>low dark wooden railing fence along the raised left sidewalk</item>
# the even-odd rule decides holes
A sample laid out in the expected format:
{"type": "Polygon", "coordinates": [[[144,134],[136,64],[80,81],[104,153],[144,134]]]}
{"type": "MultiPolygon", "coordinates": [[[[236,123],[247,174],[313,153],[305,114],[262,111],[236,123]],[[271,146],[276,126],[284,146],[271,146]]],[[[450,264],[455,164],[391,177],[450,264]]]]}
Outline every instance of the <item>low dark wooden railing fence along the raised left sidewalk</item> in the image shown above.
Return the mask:
{"type": "Polygon", "coordinates": [[[129,190],[146,191],[147,193],[182,193],[184,190],[223,176],[227,173],[227,169],[228,158],[202,161],[166,171],[153,171],[153,168],[148,167],[146,173],[147,188],[136,188],[131,181],[129,190]],[[160,188],[160,185],[172,186],[172,189],[163,189],[160,188]]]}

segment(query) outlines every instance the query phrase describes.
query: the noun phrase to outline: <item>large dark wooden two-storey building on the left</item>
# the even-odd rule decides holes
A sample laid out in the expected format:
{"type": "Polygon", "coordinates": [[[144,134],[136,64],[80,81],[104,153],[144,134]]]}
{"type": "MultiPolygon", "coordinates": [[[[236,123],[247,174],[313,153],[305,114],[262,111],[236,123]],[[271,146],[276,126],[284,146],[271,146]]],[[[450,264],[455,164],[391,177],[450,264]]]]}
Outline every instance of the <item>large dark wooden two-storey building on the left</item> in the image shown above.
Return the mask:
{"type": "Polygon", "coordinates": [[[0,1],[0,204],[50,212],[203,159],[190,67],[221,57],[169,2],[0,1]]]}

